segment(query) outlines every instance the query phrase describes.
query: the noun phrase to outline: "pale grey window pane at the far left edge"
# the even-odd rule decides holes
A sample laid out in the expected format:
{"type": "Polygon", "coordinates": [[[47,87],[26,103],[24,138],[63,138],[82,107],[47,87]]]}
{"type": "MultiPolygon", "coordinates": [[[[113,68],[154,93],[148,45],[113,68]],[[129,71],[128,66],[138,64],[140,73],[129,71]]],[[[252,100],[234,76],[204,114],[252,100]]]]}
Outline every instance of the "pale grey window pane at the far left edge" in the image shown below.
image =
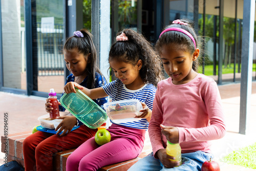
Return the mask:
{"type": "Polygon", "coordinates": [[[24,4],[4,0],[1,5],[4,87],[26,90],[24,4]]]}

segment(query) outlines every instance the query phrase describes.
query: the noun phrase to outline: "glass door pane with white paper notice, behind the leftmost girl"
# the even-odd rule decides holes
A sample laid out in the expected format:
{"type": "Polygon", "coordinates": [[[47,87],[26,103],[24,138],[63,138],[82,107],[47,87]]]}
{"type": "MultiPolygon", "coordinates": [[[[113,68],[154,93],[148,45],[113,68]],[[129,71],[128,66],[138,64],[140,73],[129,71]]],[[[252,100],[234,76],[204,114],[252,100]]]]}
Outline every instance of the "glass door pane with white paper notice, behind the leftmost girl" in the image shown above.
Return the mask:
{"type": "Polygon", "coordinates": [[[33,21],[33,77],[34,86],[40,92],[49,92],[54,89],[57,93],[63,92],[64,67],[63,47],[63,1],[36,0],[32,6],[33,21]],[[34,28],[36,27],[36,29],[34,28]],[[36,30],[36,33],[35,33],[36,30]]]}

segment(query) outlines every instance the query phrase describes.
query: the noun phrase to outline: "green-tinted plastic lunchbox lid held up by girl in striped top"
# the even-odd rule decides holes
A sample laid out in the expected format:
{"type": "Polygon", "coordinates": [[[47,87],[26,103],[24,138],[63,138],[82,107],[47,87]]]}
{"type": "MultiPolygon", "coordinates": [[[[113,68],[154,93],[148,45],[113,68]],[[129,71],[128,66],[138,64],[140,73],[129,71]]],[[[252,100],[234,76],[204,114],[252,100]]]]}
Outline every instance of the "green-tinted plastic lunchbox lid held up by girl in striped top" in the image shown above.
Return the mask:
{"type": "Polygon", "coordinates": [[[105,111],[77,88],[76,93],[65,93],[60,98],[60,103],[78,120],[91,129],[97,129],[108,119],[105,111]]]}

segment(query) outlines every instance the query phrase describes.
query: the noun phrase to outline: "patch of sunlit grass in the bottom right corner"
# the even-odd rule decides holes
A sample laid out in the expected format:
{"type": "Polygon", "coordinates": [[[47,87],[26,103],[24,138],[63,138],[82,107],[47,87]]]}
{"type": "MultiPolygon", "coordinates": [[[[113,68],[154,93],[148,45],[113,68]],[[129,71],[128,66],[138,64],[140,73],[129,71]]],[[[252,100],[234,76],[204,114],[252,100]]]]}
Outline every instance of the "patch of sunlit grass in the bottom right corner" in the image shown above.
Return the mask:
{"type": "Polygon", "coordinates": [[[229,164],[256,169],[256,143],[233,151],[222,160],[229,164]]]}

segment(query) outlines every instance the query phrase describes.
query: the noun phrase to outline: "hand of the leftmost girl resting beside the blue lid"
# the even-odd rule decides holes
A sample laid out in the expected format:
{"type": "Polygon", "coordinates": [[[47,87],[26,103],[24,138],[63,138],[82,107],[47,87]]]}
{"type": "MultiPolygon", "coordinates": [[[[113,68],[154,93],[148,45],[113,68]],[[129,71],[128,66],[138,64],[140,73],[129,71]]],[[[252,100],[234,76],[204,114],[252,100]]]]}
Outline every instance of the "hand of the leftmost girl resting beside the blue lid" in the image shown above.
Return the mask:
{"type": "Polygon", "coordinates": [[[69,134],[77,123],[76,117],[74,116],[59,116],[57,118],[63,119],[55,129],[55,131],[57,131],[60,128],[59,131],[56,133],[57,135],[63,131],[63,133],[59,135],[60,137],[66,135],[66,133],[69,134]]]}

